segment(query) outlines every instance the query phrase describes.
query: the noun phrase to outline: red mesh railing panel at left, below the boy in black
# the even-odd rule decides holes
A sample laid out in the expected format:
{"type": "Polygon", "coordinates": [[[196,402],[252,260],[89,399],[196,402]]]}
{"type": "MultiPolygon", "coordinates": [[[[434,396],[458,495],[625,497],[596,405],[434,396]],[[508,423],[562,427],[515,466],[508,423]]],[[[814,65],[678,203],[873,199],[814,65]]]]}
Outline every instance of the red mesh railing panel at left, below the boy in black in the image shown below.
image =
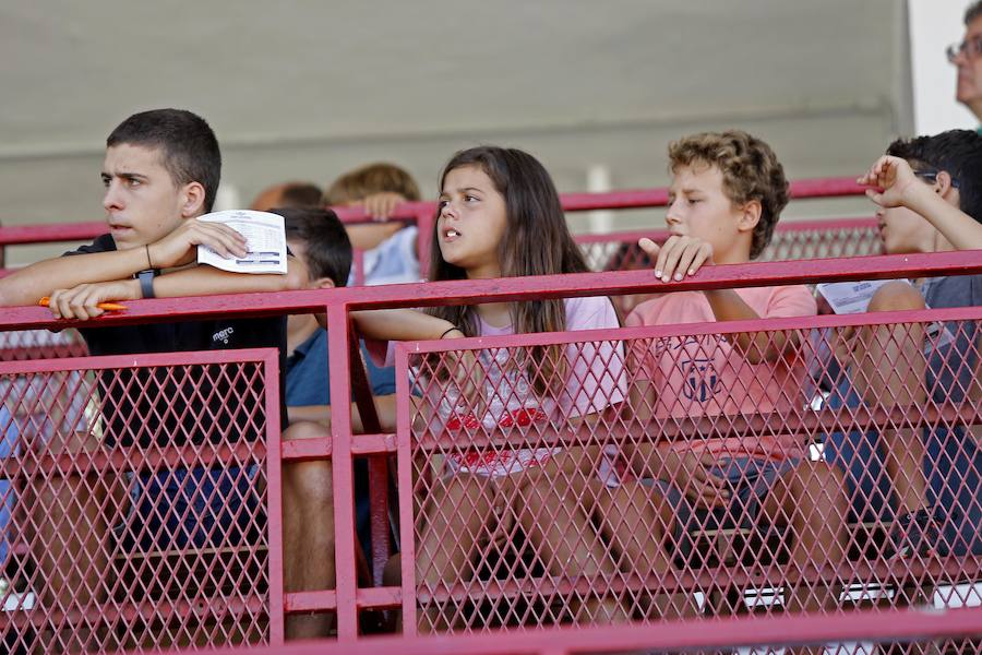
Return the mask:
{"type": "Polygon", "coordinates": [[[278,362],[0,362],[10,652],[282,643],[278,362]]]}

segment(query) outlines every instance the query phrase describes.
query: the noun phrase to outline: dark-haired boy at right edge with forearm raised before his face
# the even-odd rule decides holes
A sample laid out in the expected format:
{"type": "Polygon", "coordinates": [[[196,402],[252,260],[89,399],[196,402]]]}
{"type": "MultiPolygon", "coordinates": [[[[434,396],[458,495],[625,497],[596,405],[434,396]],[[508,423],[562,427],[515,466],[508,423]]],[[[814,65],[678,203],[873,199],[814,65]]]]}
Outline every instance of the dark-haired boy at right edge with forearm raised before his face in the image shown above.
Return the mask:
{"type": "MultiPolygon", "coordinates": [[[[982,248],[982,135],[949,130],[897,140],[857,181],[871,187],[888,254],[982,248]]],[[[867,311],[982,306],[982,275],[894,281],[867,311]]],[[[975,321],[946,323],[950,343],[932,340],[923,323],[869,326],[843,333],[838,357],[848,367],[831,407],[978,404],[975,321]]],[[[982,553],[982,441],[978,428],[897,425],[878,432],[836,432],[826,457],[846,469],[857,519],[889,520],[888,557],[982,553]]]]}

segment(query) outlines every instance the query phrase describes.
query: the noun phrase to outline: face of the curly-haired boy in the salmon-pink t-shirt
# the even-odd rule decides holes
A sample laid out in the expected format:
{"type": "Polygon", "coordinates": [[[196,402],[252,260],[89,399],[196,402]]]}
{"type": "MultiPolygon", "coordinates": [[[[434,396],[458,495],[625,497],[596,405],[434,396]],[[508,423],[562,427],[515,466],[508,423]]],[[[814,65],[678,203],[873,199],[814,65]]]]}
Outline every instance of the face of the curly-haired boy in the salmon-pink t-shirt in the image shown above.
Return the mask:
{"type": "Polygon", "coordinates": [[[718,167],[696,163],[674,169],[666,215],[672,235],[707,241],[715,263],[745,262],[750,259],[750,240],[740,229],[743,218],[743,211],[723,190],[718,167]]]}

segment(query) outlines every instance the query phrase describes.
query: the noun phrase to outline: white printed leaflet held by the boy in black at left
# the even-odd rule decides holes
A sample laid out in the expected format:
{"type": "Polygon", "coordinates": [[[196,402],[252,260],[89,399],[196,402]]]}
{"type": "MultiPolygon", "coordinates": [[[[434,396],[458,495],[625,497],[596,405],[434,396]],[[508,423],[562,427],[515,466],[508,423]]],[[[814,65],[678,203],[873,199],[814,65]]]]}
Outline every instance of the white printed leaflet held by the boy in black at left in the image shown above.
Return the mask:
{"type": "Polygon", "coordinates": [[[286,230],[283,216],[252,210],[212,212],[199,221],[224,223],[246,237],[246,257],[224,258],[206,246],[197,247],[197,263],[231,273],[286,273],[286,230]]]}

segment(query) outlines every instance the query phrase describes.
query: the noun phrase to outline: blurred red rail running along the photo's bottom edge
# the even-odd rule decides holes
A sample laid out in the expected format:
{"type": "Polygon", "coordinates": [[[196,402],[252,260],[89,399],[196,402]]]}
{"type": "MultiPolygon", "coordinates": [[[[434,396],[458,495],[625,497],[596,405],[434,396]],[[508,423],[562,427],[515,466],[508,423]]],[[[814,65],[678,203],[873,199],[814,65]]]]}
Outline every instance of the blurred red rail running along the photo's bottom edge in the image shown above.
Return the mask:
{"type": "MultiPolygon", "coordinates": [[[[539,630],[492,630],[482,634],[404,638],[374,636],[346,642],[299,642],[251,648],[250,653],[314,655],[504,655],[512,653],[621,653],[694,648],[735,648],[839,642],[885,642],[970,638],[982,633],[982,608],[938,611],[859,610],[828,615],[687,619],[602,627],[553,627],[539,630]]],[[[217,655],[242,653],[217,650],[217,655]]]]}

